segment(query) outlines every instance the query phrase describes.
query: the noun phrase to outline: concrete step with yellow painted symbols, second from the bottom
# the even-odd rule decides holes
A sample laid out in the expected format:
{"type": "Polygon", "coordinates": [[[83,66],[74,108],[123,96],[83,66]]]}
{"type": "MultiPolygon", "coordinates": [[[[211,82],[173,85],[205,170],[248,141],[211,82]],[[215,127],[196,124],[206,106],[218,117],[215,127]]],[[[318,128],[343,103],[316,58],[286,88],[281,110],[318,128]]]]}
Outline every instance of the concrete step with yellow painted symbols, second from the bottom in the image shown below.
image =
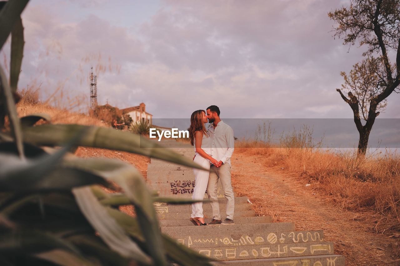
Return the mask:
{"type": "Polygon", "coordinates": [[[214,260],[287,258],[297,256],[331,255],[333,254],[333,242],[194,248],[193,250],[196,250],[200,254],[214,260]]]}

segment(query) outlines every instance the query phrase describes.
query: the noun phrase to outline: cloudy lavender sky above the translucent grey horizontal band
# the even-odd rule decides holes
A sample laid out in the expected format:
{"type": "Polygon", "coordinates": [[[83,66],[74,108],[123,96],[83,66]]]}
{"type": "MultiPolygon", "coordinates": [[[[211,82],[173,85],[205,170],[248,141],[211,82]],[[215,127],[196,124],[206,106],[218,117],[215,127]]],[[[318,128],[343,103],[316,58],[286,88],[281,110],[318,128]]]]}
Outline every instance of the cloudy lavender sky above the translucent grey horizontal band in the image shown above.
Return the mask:
{"type": "MultiPolygon", "coordinates": [[[[31,0],[19,87],[146,103],[157,118],[352,118],[336,88],[364,48],[333,38],[340,0],[31,0]],[[350,48],[350,49],[349,49],[350,48]]],[[[9,57],[4,48],[2,56],[9,57]]],[[[400,118],[393,93],[381,118],[400,118]]],[[[67,102],[66,100],[64,102],[67,102]]]]}

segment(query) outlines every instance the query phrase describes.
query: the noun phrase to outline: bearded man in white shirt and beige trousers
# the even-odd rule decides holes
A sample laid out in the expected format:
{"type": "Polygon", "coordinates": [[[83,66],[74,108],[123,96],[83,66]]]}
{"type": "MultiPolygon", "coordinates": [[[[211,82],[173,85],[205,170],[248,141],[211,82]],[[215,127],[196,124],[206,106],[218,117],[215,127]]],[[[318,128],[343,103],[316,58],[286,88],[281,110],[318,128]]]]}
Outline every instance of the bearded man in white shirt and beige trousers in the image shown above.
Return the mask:
{"type": "Polygon", "coordinates": [[[230,157],[234,150],[233,130],[220,119],[220,109],[216,105],[207,108],[207,118],[208,122],[212,123],[212,127],[208,129],[211,138],[211,157],[218,161],[217,166],[211,165],[208,177],[207,195],[211,201],[213,216],[208,224],[234,224],[235,198],[230,182],[230,157]],[[226,198],[226,219],[223,222],[217,198],[218,180],[221,181],[226,198]]]}

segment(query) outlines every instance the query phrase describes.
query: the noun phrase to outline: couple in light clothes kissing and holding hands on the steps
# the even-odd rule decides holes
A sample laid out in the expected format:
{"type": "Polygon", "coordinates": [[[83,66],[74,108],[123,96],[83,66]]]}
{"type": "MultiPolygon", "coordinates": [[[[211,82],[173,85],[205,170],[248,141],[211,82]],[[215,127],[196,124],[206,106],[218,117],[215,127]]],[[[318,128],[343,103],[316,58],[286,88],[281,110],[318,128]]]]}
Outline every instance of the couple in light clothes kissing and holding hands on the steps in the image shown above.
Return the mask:
{"type": "Polygon", "coordinates": [[[204,193],[211,201],[212,220],[204,221],[203,202],[192,204],[190,221],[194,225],[234,224],[234,194],[230,181],[230,157],[234,151],[232,128],[220,119],[220,109],[216,105],[207,107],[206,111],[197,110],[190,117],[190,144],[195,147],[193,161],[209,171],[193,169],[195,186],[192,199],[202,200],[204,193]],[[205,123],[212,123],[206,130],[205,123]],[[226,198],[226,219],[221,220],[220,206],[217,197],[217,185],[221,181],[226,198]]]}

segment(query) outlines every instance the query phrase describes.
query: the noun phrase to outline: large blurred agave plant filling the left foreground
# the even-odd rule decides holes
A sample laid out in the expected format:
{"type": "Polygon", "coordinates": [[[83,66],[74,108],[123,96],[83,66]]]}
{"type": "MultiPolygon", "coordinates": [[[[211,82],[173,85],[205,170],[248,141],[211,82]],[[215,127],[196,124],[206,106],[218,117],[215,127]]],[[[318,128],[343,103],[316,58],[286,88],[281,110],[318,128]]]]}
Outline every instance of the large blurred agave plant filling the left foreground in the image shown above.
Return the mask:
{"type": "Polygon", "coordinates": [[[12,33],[11,86],[0,67],[0,109],[10,121],[9,129],[0,131],[0,265],[209,265],[207,258],[159,230],[154,201],[191,200],[155,197],[132,165],[82,159],[69,151],[83,145],[198,165],[129,132],[35,126],[50,117],[18,117],[13,93],[24,42],[20,14],[27,2],[9,0],[0,11],[0,48],[12,33]],[[105,193],[101,186],[112,184],[124,192],[105,193]],[[136,217],[120,212],[116,207],[122,204],[133,204],[136,217]]]}

